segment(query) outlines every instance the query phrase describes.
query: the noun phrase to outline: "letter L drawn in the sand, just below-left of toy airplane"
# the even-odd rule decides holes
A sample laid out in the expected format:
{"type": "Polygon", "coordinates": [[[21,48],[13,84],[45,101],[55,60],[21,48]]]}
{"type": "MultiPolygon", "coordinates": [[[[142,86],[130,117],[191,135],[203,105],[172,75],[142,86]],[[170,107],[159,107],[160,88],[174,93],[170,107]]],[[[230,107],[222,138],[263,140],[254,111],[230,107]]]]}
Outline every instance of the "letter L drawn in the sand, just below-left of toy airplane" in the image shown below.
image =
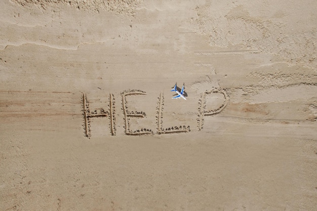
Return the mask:
{"type": "Polygon", "coordinates": [[[172,128],[163,128],[163,106],[164,106],[164,96],[163,91],[161,92],[160,97],[158,98],[159,102],[156,107],[156,125],[157,125],[157,134],[175,134],[175,133],[186,133],[190,131],[190,127],[183,126],[172,126],[172,128]]]}

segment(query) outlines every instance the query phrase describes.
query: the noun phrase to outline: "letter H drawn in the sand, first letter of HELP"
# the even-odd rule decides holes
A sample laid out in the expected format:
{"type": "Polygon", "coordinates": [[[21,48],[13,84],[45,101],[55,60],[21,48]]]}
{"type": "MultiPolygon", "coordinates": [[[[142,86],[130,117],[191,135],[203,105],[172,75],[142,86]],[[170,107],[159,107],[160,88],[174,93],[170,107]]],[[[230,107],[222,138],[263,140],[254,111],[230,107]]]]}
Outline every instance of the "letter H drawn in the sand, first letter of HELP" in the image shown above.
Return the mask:
{"type": "Polygon", "coordinates": [[[83,117],[84,117],[84,131],[87,138],[91,137],[90,122],[91,118],[98,117],[108,117],[109,118],[109,130],[111,136],[115,136],[115,110],[114,110],[114,97],[113,94],[109,94],[109,105],[108,111],[105,111],[103,108],[100,108],[99,111],[95,110],[93,112],[89,109],[89,102],[87,100],[86,94],[82,94],[82,103],[83,103],[83,117]]]}

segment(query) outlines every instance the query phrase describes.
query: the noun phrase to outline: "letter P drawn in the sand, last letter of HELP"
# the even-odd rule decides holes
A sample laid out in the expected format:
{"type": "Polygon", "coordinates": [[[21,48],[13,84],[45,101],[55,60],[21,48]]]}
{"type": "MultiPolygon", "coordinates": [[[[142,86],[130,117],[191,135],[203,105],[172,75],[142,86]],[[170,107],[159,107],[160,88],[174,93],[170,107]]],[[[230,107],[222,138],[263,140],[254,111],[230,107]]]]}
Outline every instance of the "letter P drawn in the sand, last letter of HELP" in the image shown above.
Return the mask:
{"type": "Polygon", "coordinates": [[[220,89],[216,89],[216,88],[213,88],[211,90],[206,90],[202,94],[202,98],[199,100],[199,103],[198,103],[198,117],[199,117],[199,118],[197,118],[198,131],[201,131],[203,129],[204,116],[211,116],[211,115],[220,113],[227,106],[228,101],[229,101],[228,95],[224,90],[220,90],[220,89]],[[207,95],[211,95],[211,94],[223,95],[224,102],[217,109],[206,111],[206,97],[207,97],[207,95]]]}

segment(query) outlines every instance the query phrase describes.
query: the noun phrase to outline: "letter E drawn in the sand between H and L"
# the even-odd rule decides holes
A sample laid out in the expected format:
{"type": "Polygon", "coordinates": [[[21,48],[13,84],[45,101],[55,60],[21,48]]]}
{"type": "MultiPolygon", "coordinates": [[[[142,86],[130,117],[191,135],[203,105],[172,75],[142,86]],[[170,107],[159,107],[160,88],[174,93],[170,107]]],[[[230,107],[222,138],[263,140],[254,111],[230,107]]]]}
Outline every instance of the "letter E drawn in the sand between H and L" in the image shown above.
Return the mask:
{"type": "Polygon", "coordinates": [[[144,118],[146,115],[144,112],[129,112],[128,111],[128,105],[127,105],[127,96],[129,95],[146,95],[145,92],[141,90],[126,90],[121,93],[122,95],[122,109],[124,113],[124,121],[125,121],[125,133],[126,135],[134,135],[134,136],[140,136],[140,135],[147,135],[147,134],[153,134],[152,130],[150,129],[140,129],[132,132],[130,130],[130,117],[134,118],[144,118]]]}

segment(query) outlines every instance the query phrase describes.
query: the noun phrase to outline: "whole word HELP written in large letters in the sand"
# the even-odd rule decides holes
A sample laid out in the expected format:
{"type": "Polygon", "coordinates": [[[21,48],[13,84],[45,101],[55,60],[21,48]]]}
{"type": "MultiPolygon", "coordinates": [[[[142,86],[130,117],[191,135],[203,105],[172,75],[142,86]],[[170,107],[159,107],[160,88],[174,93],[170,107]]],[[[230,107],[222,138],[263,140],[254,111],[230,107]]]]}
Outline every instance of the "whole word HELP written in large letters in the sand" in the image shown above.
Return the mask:
{"type": "MultiPolygon", "coordinates": [[[[146,92],[141,90],[125,90],[121,93],[122,97],[122,110],[123,110],[123,118],[124,118],[124,129],[125,134],[130,136],[141,136],[141,135],[153,135],[154,132],[151,129],[139,129],[135,131],[130,130],[130,118],[145,118],[146,114],[144,112],[139,111],[129,111],[127,97],[129,96],[137,96],[137,95],[146,95],[146,92]]],[[[172,126],[164,129],[163,127],[163,107],[164,107],[164,95],[163,91],[161,92],[157,107],[156,107],[156,134],[178,134],[178,133],[188,133],[190,132],[189,125],[180,125],[180,126],[172,126]]],[[[109,120],[109,131],[111,136],[115,136],[115,100],[112,93],[109,93],[109,104],[108,109],[105,111],[103,108],[96,109],[94,111],[90,111],[89,101],[87,99],[86,94],[82,94],[82,106],[83,106],[83,118],[84,118],[84,133],[87,138],[91,137],[91,119],[92,118],[100,118],[107,117],[109,120]]],[[[198,118],[197,118],[197,127],[198,130],[201,131],[203,129],[204,117],[211,116],[217,113],[220,113],[228,104],[228,96],[224,90],[212,88],[211,90],[205,91],[198,103],[198,118]],[[220,107],[213,110],[206,110],[206,98],[208,95],[212,94],[221,94],[224,97],[224,102],[220,107]]]]}

